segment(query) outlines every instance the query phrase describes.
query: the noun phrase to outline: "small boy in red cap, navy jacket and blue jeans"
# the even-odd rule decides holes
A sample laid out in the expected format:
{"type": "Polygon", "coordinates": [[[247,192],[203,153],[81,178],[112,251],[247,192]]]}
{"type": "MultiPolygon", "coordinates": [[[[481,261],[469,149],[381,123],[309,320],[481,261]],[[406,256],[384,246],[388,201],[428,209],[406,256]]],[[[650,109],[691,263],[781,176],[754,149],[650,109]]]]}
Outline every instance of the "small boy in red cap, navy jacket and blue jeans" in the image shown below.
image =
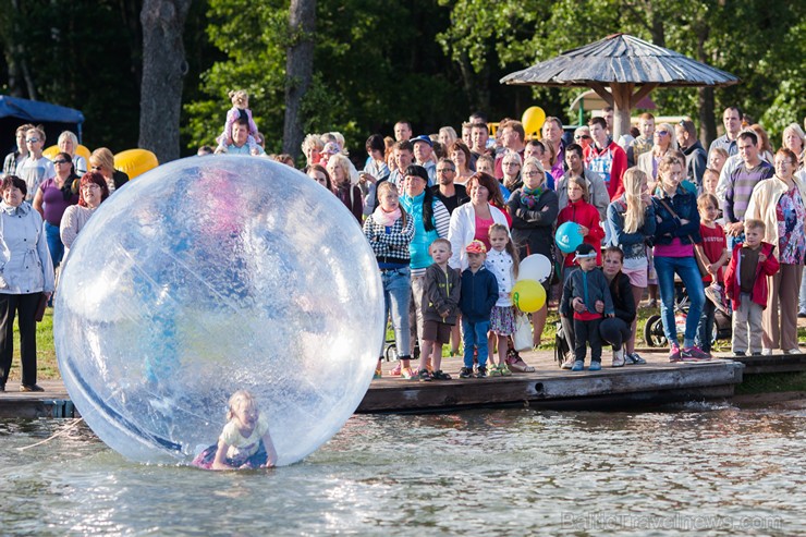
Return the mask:
{"type": "Polygon", "coordinates": [[[459,308],[462,310],[464,331],[465,366],[459,378],[473,378],[473,347],[478,349],[476,378],[487,377],[487,332],[490,330],[490,314],[498,301],[496,274],[485,269],[487,247],[481,241],[473,241],[465,248],[468,267],[462,272],[462,292],[459,308]]]}

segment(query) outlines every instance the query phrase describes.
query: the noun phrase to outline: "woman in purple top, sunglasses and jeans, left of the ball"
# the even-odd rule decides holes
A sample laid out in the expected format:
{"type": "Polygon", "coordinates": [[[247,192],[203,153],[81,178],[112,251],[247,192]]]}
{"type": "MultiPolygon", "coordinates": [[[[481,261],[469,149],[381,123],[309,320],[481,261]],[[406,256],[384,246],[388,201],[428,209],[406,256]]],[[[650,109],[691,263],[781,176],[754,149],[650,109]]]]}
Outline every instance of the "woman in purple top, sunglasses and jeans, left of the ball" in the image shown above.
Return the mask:
{"type": "Polygon", "coordinates": [[[57,154],[53,166],[56,176],[39,185],[34,196],[34,208],[45,220],[45,236],[56,269],[64,256],[64,245],[59,232],[62,217],[68,207],[78,203],[77,183],[76,190],[73,190],[73,182],[78,175],[73,172],[73,159],[66,152],[57,154]]]}

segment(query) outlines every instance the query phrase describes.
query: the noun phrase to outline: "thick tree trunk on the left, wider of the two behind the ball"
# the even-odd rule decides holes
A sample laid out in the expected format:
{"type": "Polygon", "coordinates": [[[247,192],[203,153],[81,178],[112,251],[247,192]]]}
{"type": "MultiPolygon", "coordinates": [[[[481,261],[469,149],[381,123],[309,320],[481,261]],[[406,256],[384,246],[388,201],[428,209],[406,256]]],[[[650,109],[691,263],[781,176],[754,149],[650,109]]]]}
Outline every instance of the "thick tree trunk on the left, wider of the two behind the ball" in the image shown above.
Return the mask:
{"type": "Polygon", "coordinates": [[[138,146],[160,163],[179,158],[182,82],[187,73],[182,32],[192,0],[145,0],[138,146]]]}

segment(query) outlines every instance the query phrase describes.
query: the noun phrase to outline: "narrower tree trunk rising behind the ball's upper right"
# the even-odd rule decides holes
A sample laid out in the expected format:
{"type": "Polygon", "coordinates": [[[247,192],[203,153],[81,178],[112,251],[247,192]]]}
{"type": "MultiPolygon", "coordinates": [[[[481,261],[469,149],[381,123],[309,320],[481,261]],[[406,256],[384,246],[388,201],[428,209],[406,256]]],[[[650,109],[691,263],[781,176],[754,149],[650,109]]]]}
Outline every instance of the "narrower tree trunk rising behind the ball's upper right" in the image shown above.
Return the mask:
{"type": "Polygon", "coordinates": [[[316,0],[291,0],[289,10],[290,45],[285,59],[285,122],[283,152],[296,158],[302,148],[302,100],[314,76],[314,33],[316,0]]]}

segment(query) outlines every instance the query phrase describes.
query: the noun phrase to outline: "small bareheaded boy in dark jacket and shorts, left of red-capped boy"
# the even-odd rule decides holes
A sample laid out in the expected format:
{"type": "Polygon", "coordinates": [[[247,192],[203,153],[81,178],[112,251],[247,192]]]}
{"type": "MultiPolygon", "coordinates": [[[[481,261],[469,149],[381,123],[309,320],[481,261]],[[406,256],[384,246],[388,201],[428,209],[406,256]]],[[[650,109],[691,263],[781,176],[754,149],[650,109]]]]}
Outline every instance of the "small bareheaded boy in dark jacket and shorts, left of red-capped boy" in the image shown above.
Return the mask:
{"type": "Polygon", "coordinates": [[[428,248],[433,264],[426,269],[423,284],[423,351],[419,355],[419,379],[451,380],[442,371],[442,345],[450,342],[451,329],[459,314],[462,278],[448,266],[451,243],[436,239],[428,248]],[[428,371],[428,362],[433,373],[428,371]]]}

